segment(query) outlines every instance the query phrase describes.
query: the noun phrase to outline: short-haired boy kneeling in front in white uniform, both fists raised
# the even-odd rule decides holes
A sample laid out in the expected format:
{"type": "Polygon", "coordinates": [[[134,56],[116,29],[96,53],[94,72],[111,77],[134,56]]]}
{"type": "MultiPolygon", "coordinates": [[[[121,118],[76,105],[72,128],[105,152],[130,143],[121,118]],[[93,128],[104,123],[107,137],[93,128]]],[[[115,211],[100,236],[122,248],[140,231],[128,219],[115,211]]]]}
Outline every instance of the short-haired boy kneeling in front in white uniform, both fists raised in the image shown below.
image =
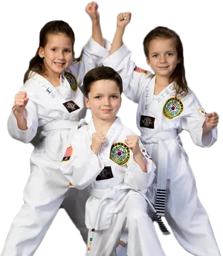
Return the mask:
{"type": "Polygon", "coordinates": [[[153,182],[155,164],[117,117],[123,100],[120,75],[109,67],[94,68],[83,89],[92,119],[71,137],[61,169],[74,188],[88,187],[91,194],[87,255],[113,255],[122,231],[129,231],[129,256],[165,255],[148,215],[155,209],[143,193],[153,182]]]}

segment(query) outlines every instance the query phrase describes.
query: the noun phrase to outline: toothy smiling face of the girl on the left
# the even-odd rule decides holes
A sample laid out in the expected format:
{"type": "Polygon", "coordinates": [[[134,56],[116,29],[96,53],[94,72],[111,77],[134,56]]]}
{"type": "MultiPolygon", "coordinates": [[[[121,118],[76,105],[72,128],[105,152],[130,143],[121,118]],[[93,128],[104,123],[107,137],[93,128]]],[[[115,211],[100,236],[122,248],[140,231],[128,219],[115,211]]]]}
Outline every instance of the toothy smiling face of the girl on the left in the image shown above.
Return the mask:
{"type": "Polygon", "coordinates": [[[43,58],[45,73],[60,74],[73,60],[71,39],[64,33],[51,33],[44,48],[39,48],[39,57],[43,58]]]}

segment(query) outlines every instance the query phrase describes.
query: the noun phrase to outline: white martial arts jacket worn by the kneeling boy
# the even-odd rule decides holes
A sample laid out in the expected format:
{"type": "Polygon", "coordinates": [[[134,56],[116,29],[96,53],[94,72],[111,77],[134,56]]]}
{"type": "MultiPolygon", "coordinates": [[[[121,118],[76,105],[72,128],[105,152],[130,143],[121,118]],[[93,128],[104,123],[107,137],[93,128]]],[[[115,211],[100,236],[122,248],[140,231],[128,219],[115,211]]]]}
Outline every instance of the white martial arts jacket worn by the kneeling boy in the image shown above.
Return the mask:
{"type": "MultiPolygon", "coordinates": [[[[120,210],[127,196],[139,191],[144,196],[143,191],[149,188],[155,177],[155,164],[141,142],[140,149],[144,155],[147,173],[143,173],[134,161],[131,150],[126,164],[119,165],[111,160],[110,156],[117,156],[116,154],[127,156],[124,147],[119,150],[115,145],[117,142],[124,143],[127,135],[135,135],[135,132],[123,126],[120,118],[116,118],[110,127],[106,142],[97,155],[91,150],[94,132],[92,120],[87,126],[77,130],[61,162],[61,169],[74,188],[88,187],[91,196],[86,202],[85,224],[87,228],[102,230],[109,228],[112,215],[120,210]],[[105,179],[106,176],[109,178],[105,179]]],[[[155,212],[149,201],[148,203],[155,212]]]]}

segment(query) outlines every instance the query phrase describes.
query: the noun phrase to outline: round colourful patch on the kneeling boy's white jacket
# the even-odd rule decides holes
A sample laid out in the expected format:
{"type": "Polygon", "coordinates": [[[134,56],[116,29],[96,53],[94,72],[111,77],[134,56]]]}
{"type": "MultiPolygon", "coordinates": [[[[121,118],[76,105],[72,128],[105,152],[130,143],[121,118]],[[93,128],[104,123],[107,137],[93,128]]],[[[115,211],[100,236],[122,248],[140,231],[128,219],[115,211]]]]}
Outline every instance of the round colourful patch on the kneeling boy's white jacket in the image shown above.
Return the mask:
{"type": "Polygon", "coordinates": [[[123,142],[116,142],[111,146],[110,159],[116,164],[126,164],[129,161],[129,157],[129,147],[123,142]]]}

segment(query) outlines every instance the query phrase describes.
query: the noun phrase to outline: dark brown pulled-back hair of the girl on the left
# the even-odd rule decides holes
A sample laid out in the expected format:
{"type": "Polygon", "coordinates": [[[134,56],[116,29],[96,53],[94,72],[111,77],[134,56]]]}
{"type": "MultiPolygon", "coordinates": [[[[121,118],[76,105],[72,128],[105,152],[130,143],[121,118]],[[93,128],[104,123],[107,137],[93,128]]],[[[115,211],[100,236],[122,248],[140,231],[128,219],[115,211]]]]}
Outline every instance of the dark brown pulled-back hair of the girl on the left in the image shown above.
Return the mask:
{"type": "Polygon", "coordinates": [[[50,34],[58,34],[63,33],[71,39],[72,42],[72,53],[75,53],[75,34],[72,30],[71,26],[68,25],[67,22],[62,20],[51,20],[48,22],[39,33],[39,40],[37,42],[36,53],[30,59],[30,63],[28,65],[27,70],[25,71],[25,77],[22,80],[24,84],[26,80],[28,80],[30,71],[35,71],[38,74],[43,74],[45,72],[45,65],[43,63],[43,59],[39,57],[39,48],[45,48],[45,45],[48,42],[48,35],[50,34]]]}

